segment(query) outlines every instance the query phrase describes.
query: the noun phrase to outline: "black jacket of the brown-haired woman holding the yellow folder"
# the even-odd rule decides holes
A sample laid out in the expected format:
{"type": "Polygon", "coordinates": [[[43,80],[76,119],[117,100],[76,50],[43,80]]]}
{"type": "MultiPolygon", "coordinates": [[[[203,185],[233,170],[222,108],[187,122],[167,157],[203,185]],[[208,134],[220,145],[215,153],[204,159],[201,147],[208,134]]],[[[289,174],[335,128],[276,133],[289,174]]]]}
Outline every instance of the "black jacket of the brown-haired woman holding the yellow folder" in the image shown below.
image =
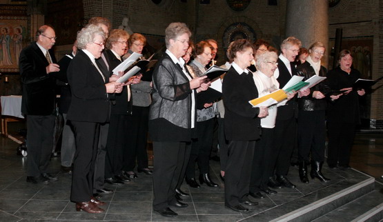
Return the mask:
{"type": "Polygon", "coordinates": [[[253,141],[259,139],[259,108],[248,101],[258,97],[253,74],[239,74],[233,66],[226,72],[222,83],[225,105],[224,131],[229,141],[253,141]]]}

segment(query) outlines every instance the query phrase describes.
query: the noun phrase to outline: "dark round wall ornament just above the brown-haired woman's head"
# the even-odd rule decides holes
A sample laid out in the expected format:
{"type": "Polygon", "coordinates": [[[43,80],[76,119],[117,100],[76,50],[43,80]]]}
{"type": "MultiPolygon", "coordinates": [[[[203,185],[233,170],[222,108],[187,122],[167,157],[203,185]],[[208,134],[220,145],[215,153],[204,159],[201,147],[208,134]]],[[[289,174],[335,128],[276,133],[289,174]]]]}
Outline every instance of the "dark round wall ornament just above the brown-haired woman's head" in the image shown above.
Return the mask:
{"type": "Polygon", "coordinates": [[[248,39],[253,42],[257,39],[257,35],[251,26],[248,26],[247,23],[237,22],[233,23],[224,31],[223,36],[223,45],[224,48],[227,49],[230,42],[235,41],[237,39],[248,39]]]}

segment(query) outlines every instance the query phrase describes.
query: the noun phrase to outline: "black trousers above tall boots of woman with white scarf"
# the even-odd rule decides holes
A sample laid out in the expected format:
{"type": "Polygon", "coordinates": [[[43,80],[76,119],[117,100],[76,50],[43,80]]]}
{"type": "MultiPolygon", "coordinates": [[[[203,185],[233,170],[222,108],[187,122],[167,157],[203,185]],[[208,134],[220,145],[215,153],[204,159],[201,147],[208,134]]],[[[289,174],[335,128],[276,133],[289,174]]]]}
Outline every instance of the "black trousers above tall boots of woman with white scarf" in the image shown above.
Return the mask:
{"type": "Polygon", "coordinates": [[[324,161],[326,147],[326,111],[303,111],[298,114],[298,161],[324,161]]]}

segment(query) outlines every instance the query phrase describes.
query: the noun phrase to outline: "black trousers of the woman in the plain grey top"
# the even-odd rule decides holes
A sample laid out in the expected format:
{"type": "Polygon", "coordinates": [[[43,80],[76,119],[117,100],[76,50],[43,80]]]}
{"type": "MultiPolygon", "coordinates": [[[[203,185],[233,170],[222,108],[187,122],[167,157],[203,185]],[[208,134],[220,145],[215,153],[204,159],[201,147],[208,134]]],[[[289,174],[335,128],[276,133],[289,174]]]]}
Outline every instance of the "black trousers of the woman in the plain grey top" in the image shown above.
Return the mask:
{"type": "Polygon", "coordinates": [[[149,107],[132,106],[132,115],[128,123],[129,143],[124,154],[124,170],[132,171],[136,165],[139,169],[148,168],[148,152],[146,152],[148,135],[149,107]]]}

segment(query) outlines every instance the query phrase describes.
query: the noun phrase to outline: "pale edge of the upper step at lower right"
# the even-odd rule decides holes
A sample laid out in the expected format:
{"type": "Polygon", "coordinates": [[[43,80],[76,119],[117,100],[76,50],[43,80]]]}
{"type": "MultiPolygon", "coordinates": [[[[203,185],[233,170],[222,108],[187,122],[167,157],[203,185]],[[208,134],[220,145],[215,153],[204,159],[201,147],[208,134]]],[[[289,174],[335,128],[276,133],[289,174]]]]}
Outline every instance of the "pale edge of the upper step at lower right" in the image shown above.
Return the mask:
{"type": "Polygon", "coordinates": [[[375,179],[373,177],[369,176],[369,179],[366,179],[365,181],[362,181],[360,183],[352,185],[351,187],[347,188],[346,191],[341,190],[339,192],[336,192],[335,194],[331,194],[330,196],[326,196],[325,198],[320,199],[318,201],[315,201],[313,203],[310,203],[309,205],[306,205],[303,208],[299,208],[297,210],[294,210],[293,212],[289,212],[288,214],[284,214],[282,216],[279,216],[278,218],[273,219],[272,222],[290,221],[292,219],[297,218],[298,216],[302,216],[302,215],[310,212],[311,210],[320,208],[323,205],[331,203],[332,201],[335,201],[336,199],[339,199],[340,197],[351,194],[351,192],[359,190],[360,188],[364,188],[365,186],[370,185],[371,183],[374,183],[374,182],[375,182],[375,179]]]}

